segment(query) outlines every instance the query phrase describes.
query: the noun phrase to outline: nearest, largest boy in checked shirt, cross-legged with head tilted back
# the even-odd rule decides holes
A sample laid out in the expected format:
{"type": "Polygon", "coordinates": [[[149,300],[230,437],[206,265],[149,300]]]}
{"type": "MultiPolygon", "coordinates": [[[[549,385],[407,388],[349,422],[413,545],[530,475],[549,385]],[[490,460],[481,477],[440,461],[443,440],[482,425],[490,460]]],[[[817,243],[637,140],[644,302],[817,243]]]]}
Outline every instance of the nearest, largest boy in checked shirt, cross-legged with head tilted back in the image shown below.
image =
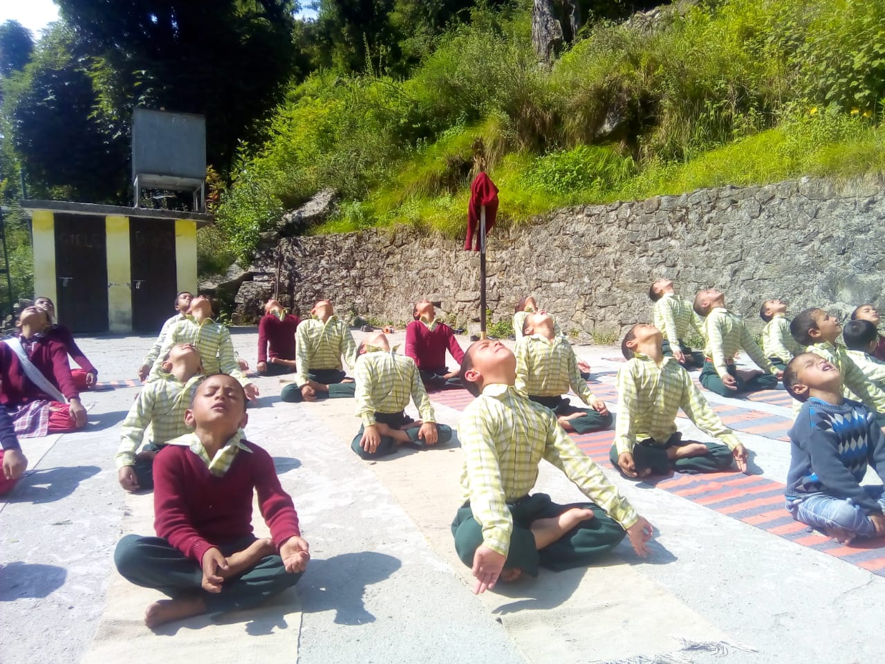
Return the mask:
{"type": "Polygon", "coordinates": [[[625,532],[635,552],[649,553],[651,524],[637,514],[592,459],[578,449],[549,408],[516,385],[516,357],[484,339],[467,349],[461,380],[473,394],[458,424],[464,452],[464,505],[451,524],[458,557],[473,567],[474,592],[538,567],[559,570],[598,560],[625,532]],[[547,459],[590,503],[557,505],[529,495],[547,459]]]}

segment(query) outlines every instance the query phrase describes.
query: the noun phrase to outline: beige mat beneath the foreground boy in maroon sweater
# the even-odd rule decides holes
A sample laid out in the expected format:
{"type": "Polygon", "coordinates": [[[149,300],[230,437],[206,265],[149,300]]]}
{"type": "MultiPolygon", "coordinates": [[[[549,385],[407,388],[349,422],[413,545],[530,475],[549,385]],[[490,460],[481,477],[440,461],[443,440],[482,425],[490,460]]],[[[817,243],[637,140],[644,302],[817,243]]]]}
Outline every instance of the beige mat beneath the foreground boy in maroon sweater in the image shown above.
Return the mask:
{"type": "MultiPolygon", "coordinates": [[[[130,494],[126,506],[123,533],[153,534],[152,494],[130,494]]],[[[257,507],[253,513],[258,515],[256,534],[266,537],[257,507]]],[[[144,626],[144,609],[163,597],[158,591],[128,583],[114,570],[104,614],[82,663],[211,660],[212,664],[294,664],[298,659],[301,603],[294,587],[248,611],[226,614],[223,623],[197,616],[151,631],[144,626]]]]}

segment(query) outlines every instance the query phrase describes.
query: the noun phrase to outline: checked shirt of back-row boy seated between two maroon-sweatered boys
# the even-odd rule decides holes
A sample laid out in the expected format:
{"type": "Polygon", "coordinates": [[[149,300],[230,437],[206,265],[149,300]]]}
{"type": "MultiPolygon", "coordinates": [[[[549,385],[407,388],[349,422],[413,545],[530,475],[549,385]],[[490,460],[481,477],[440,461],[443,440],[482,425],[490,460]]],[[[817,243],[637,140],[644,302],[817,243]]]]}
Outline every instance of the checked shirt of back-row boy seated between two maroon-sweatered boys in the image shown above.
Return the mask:
{"type": "Polygon", "coordinates": [[[342,355],[348,367],[356,367],[357,344],[343,320],[337,316],[329,316],[325,323],[316,318],[302,320],[295,333],[295,384],[304,385],[313,369],[340,371],[342,355]]]}

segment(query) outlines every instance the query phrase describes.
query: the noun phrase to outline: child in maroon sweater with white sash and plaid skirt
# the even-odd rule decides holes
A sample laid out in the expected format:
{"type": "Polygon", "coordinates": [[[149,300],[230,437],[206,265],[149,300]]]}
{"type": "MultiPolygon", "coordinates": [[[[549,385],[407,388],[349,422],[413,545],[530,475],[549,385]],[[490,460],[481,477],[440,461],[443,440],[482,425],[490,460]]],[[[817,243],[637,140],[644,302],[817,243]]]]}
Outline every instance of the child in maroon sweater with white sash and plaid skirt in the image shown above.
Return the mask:
{"type": "Polygon", "coordinates": [[[0,402],[6,406],[20,438],[46,436],[81,429],[86,409],[80,403],[67,363],[67,350],[46,334],[49,314],[27,306],[19,314],[19,336],[0,344],[0,402]],[[18,346],[44,379],[32,381],[13,350],[18,346]]]}

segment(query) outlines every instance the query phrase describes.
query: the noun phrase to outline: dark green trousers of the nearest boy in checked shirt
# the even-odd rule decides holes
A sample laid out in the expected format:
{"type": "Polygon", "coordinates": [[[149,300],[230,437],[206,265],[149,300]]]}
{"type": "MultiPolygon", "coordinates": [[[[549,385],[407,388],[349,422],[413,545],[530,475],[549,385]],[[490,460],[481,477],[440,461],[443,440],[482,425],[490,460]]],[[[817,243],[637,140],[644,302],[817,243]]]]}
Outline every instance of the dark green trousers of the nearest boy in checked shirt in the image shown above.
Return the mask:
{"type": "MultiPolygon", "coordinates": [[[[507,507],[513,517],[513,530],[504,569],[515,567],[530,576],[538,575],[538,567],[558,572],[571,567],[591,565],[612,551],[627,535],[617,521],[594,503],[557,505],[547,494],[535,493],[534,496],[520,498],[507,507]],[[570,507],[589,507],[596,517],[581,521],[556,542],[538,551],[535,548],[535,536],[529,529],[532,522],[558,516],[570,507]]],[[[455,514],[451,534],[455,537],[458,558],[467,567],[473,567],[473,554],[482,544],[482,525],[473,518],[469,502],[455,514]]]]}

